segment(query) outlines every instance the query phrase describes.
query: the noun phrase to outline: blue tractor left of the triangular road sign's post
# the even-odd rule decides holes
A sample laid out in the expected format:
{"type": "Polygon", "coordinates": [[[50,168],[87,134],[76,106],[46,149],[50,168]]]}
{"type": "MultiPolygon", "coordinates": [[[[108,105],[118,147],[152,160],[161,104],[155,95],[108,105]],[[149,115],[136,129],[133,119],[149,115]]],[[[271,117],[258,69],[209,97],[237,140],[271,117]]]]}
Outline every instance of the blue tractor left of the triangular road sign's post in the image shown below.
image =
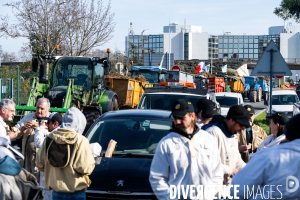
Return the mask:
{"type": "Polygon", "coordinates": [[[244,92],[242,98],[249,99],[250,102],[260,102],[261,98],[266,100],[270,90],[269,82],[257,76],[243,76],[245,79],[244,92]]]}

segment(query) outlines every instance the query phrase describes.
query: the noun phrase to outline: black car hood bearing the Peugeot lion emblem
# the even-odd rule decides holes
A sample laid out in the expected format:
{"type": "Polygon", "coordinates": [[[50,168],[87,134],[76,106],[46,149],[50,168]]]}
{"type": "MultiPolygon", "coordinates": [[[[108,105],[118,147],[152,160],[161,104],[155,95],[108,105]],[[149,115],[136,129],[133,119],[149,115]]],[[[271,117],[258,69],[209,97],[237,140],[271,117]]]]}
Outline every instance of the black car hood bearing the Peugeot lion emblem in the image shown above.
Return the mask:
{"type": "Polygon", "coordinates": [[[152,158],[99,157],[89,175],[89,190],[153,192],[149,183],[152,158]]]}

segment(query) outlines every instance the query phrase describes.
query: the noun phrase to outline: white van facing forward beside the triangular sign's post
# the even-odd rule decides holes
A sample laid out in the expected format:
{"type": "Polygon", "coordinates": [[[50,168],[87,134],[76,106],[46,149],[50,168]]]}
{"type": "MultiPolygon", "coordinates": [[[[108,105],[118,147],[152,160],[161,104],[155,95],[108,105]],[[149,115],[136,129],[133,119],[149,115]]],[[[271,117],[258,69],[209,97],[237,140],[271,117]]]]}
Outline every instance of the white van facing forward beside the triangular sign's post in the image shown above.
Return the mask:
{"type": "Polygon", "coordinates": [[[269,96],[267,100],[263,102],[266,105],[266,116],[270,116],[275,113],[285,113],[288,118],[292,117],[293,104],[299,102],[299,98],[293,89],[274,89],[272,90],[272,111],[270,113],[269,108],[269,96]]]}

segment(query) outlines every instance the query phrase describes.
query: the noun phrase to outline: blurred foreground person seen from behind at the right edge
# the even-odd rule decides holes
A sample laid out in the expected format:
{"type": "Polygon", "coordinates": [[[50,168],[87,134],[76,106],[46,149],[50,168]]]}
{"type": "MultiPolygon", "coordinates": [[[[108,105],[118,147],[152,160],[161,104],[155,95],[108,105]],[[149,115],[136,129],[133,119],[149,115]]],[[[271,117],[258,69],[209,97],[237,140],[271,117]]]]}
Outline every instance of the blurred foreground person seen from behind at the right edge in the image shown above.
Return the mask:
{"type": "MultiPolygon", "coordinates": [[[[300,199],[300,114],[290,118],[283,130],[285,140],[275,147],[265,148],[247,162],[232,179],[239,198],[300,199]],[[249,194],[252,188],[254,193],[249,194]]],[[[232,190],[231,190],[232,192],[232,190]]]]}

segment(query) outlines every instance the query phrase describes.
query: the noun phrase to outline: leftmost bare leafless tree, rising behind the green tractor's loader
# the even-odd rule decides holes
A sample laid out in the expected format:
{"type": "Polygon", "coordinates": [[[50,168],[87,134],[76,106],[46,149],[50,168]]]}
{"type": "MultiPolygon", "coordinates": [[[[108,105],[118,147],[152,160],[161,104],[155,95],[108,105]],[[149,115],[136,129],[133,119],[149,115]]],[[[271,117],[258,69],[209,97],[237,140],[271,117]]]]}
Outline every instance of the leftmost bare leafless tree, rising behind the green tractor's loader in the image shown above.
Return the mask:
{"type": "MultiPolygon", "coordinates": [[[[20,0],[6,3],[12,7],[16,20],[9,22],[8,15],[0,15],[0,36],[27,37],[32,50],[51,54],[55,45],[65,39],[68,27],[63,21],[73,15],[71,7],[75,0],[20,0]]],[[[46,78],[48,64],[46,65],[46,78]]]]}

